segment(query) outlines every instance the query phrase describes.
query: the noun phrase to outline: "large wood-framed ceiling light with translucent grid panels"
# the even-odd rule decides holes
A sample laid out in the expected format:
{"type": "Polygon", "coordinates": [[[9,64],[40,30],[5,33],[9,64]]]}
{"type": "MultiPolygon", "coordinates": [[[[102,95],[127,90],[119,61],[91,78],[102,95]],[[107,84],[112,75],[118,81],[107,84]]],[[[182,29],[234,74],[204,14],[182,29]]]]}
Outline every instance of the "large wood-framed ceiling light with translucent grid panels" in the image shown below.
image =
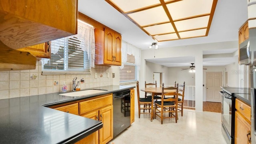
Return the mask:
{"type": "Polygon", "coordinates": [[[218,0],[105,0],[158,42],[208,36],[218,0]]]}

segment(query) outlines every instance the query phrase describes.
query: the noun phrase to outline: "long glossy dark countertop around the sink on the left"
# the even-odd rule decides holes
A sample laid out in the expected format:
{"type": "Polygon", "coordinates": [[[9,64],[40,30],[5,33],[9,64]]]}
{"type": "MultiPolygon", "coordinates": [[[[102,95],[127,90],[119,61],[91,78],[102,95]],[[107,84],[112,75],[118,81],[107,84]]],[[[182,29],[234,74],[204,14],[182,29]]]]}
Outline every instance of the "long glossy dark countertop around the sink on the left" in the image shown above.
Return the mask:
{"type": "Polygon", "coordinates": [[[102,128],[102,122],[45,106],[82,100],[130,88],[135,88],[135,86],[97,87],[93,89],[106,91],[78,97],[52,93],[0,100],[0,143],[56,144],[77,142],[102,128]]]}

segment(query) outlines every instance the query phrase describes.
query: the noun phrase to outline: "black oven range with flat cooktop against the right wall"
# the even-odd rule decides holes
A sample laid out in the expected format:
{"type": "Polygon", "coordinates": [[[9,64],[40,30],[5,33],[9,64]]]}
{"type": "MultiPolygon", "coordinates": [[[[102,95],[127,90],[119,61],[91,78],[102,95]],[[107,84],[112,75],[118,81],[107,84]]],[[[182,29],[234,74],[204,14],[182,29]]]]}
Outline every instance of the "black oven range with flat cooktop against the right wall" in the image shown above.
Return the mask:
{"type": "Polygon", "coordinates": [[[250,94],[250,88],[221,87],[222,91],[222,133],[228,144],[234,144],[235,130],[235,100],[234,95],[250,94]]]}

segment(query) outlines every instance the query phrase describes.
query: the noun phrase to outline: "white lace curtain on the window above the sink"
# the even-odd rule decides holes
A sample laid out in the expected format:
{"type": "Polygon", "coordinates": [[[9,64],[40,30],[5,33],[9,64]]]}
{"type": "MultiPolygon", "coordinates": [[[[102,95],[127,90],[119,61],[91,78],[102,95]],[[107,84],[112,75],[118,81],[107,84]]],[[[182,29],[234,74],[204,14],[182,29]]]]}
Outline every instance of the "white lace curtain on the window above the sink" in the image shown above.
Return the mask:
{"type": "MultiPolygon", "coordinates": [[[[95,35],[94,35],[94,27],[88,26],[84,22],[78,20],[78,29],[76,35],[66,37],[78,37],[81,41],[81,49],[86,51],[88,54],[88,60],[90,60],[90,65],[94,68],[95,63],[95,35]]],[[[51,53],[56,54],[59,50],[59,46],[52,46],[51,53]]]]}

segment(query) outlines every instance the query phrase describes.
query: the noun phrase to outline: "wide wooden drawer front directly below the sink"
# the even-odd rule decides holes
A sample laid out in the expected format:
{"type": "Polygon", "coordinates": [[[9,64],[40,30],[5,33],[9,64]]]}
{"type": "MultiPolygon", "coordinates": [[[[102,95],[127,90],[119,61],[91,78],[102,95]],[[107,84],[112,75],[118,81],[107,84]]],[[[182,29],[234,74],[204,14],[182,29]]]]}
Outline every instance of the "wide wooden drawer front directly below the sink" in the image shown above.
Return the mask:
{"type": "Polygon", "coordinates": [[[85,112],[89,112],[91,110],[96,110],[103,106],[112,105],[113,104],[113,96],[112,94],[103,96],[100,98],[95,98],[92,100],[86,100],[84,102],[79,102],[79,114],[83,114],[85,112]]]}

